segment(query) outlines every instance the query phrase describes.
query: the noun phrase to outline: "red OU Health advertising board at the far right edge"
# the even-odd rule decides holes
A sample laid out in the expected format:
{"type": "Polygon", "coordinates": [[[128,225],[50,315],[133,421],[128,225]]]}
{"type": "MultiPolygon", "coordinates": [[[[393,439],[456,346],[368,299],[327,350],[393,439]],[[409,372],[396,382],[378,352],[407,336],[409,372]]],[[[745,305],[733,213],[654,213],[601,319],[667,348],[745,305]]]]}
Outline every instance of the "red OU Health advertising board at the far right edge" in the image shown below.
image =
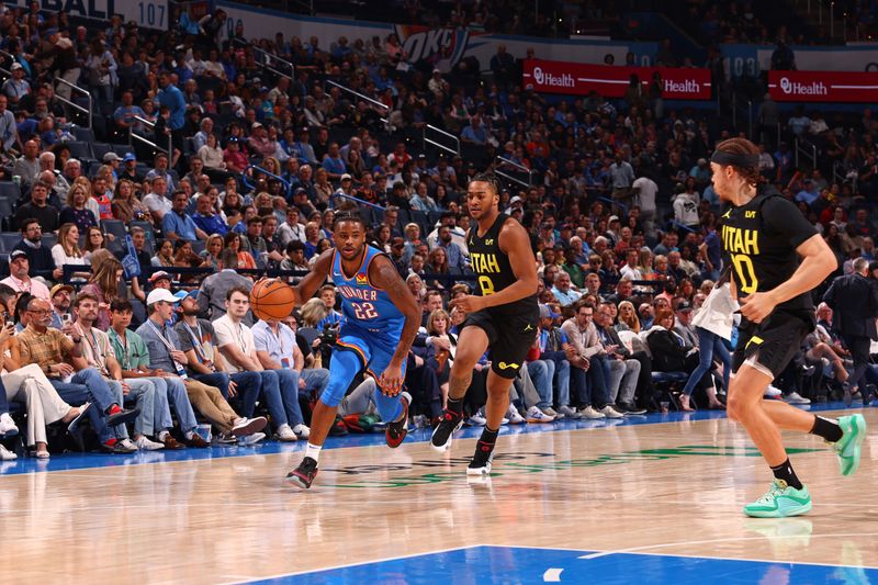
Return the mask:
{"type": "Polygon", "coordinates": [[[878,102],[878,72],[768,71],[778,102],[878,102]]]}

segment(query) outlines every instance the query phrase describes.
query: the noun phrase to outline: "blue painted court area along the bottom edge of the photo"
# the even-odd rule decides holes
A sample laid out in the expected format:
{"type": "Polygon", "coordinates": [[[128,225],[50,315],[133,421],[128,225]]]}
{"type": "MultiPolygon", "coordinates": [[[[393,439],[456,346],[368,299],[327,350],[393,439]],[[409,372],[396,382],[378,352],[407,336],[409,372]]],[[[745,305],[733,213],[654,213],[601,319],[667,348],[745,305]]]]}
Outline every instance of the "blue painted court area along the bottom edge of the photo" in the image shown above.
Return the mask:
{"type": "Polygon", "coordinates": [[[525,547],[472,547],[314,573],[259,584],[308,583],[876,583],[878,570],[634,553],[593,553],[525,547]],[[595,555],[589,559],[589,555],[595,555]]]}

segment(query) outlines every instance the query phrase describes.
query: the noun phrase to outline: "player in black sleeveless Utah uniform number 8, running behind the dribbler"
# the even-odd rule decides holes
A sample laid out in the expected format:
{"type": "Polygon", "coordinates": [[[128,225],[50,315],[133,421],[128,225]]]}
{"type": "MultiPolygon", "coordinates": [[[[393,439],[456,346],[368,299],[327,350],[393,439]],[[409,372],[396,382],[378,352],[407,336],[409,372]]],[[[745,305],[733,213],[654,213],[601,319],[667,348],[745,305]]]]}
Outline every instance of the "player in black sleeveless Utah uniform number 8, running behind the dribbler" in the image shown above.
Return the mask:
{"type": "Polygon", "coordinates": [[[487,376],[487,424],[466,470],[470,475],[491,473],[494,443],[509,408],[509,387],[518,375],[539,324],[537,260],[530,238],[516,220],[499,212],[499,187],[491,175],[476,175],[466,191],[466,205],[475,225],[466,235],[470,261],[479,277],[481,294],[451,302],[466,313],[448,391],[448,407],[432,432],[438,451],[451,447],[451,435],[463,424],[463,396],[473,368],[491,349],[487,376]]]}

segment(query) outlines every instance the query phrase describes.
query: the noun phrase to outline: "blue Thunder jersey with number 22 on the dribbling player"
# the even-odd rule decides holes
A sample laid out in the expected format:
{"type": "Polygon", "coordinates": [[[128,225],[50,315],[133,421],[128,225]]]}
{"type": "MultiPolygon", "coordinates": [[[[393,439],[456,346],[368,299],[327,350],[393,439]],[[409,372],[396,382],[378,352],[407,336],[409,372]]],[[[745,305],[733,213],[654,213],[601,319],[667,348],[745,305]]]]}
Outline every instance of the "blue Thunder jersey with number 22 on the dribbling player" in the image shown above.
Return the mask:
{"type": "Polygon", "coordinates": [[[376,256],[384,252],[372,246],[365,246],[365,254],[357,271],[349,278],[341,265],[338,250],[333,252],[333,282],[341,294],[341,325],[351,324],[372,334],[379,334],[382,340],[391,341],[393,347],[399,342],[405,316],[396,308],[390,296],[382,289],[373,286],[369,281],[369,265],[376,256]]]}

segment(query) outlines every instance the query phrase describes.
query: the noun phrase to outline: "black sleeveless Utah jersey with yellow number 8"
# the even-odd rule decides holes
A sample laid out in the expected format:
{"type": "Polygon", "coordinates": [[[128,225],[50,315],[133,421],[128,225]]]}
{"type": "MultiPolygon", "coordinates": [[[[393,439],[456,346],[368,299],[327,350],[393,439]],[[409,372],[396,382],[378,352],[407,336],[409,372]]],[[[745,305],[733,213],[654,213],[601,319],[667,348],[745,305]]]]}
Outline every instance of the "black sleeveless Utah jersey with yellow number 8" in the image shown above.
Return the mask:
{"type": "MultiPolygon", "coordinates": [[[[473,272],[479,277],[476,289],[482,296],[499,292],[516,282],[509,257],[500,249],[499,243],[500,228],[508,218],[508,215],[500,213],[494,225],[481,237],[479,236],[477,223],[470,228],[470,235],[466,238],[466,245],[470,249],[470,265],[473,272]]],[[[487,312],[497,316],[530,316],[531,314],[539,314],[537,295],[534,294],[514,303],[489,307],[487,312]]]]}

